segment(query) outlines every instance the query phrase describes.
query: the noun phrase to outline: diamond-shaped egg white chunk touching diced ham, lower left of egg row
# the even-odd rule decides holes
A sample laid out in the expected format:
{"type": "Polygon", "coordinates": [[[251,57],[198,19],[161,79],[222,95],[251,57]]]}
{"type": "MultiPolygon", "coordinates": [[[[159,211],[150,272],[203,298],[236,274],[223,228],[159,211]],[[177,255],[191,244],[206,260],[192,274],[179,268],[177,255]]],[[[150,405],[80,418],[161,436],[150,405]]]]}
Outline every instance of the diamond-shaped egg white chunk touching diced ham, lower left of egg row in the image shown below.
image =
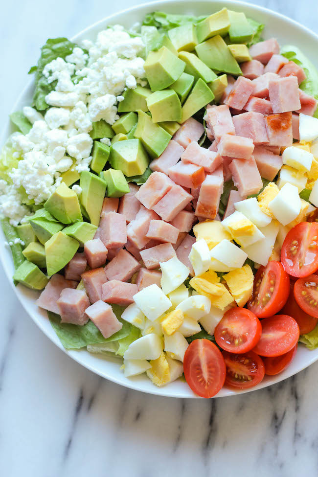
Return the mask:
{"type": "Polygon", "coordinates": [[[134,301],[150,321],[159,318],[171,307],[171,301],[155,283],[136,293],[134,301]]]}

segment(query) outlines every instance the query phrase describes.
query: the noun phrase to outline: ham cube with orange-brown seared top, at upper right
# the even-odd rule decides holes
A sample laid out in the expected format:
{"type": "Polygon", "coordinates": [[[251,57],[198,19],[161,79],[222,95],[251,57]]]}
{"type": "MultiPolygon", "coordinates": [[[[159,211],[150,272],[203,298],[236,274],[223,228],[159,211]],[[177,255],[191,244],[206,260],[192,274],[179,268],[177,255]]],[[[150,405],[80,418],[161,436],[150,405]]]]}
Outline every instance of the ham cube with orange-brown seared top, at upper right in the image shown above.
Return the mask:
{"type": "Polygon", "coordinates": [[[292,146],[292,113],[270,114],[265,117],[265,126],[271,146],[292,146]]]}

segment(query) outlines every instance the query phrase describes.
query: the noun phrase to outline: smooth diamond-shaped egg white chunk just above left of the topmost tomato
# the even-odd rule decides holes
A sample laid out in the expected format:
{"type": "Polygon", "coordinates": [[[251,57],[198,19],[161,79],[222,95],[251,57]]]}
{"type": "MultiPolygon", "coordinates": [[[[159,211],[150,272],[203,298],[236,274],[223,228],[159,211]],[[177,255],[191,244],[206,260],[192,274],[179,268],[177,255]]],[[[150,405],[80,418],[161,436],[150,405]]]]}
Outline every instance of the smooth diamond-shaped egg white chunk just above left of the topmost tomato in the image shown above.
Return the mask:
{"type": "Polygon", "coordinates": [[[285,184],[269,203],[273,216],[282,225],[287,225],[298,216],[301,209],[301,201],[298,189],[295,185],[285,184]]]}

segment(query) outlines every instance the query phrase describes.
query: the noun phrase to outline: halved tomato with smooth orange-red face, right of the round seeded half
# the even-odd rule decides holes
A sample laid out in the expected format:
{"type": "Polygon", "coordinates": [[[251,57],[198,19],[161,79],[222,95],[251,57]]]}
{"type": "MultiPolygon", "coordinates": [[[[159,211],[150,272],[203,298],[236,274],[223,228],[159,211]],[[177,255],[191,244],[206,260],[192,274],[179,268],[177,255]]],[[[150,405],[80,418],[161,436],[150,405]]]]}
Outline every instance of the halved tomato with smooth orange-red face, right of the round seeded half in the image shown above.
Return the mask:
{"type": "Polygon", "coordinates": [[[288,353],[299,338],[297,321],[288,315],[275,315],[262,320],[262,336],[253,351],[261,356],[288,353]]]}

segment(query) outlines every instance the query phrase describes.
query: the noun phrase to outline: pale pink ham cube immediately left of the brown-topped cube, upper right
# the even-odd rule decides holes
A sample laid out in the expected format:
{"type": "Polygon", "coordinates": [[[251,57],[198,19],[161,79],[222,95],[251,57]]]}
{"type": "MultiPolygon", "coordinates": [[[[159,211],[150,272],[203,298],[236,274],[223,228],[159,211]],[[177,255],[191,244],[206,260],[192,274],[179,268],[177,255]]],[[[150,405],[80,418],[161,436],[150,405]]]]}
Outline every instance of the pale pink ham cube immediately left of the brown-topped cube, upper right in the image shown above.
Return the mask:
{"type": "Polygon", "coordinates": [[[234,116],[233,123],[238,136],[250,137],[255,145],[268,142],[263,114],[249,111],[234,116]]]}

